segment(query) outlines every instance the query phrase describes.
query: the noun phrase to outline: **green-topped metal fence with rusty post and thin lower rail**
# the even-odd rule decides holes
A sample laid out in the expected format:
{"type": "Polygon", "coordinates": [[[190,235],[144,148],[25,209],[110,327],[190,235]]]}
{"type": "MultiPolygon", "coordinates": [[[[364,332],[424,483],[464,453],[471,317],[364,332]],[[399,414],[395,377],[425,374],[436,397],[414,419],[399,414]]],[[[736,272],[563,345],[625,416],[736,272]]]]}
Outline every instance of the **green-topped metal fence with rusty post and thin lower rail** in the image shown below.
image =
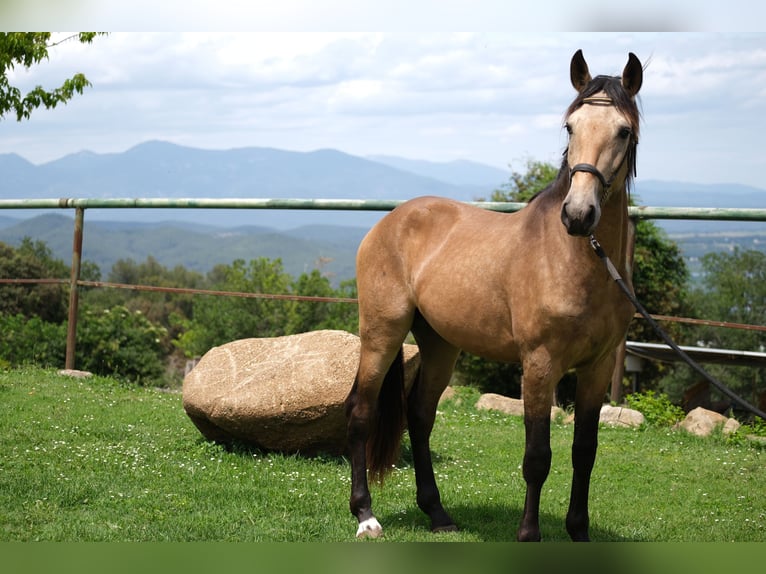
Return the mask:
{"type": "MultiPolygon", "coordinates": [[[[324,211],[391,211],[406,200],[380,199],[304,199],[304,198],[42,198],[42,199],[0,199],[0,209],[73,209],[75,211],[72,246],[71,277],[62,279],[2,279],[1,283],[68,283],[69,316],[67,323],[66,368],[75,364],[75,344],[77,332],[77,312],[79,305],[79,287],[116,287],[123,289],[166,290],[189,292],[181,288],[155,288],[111,284],[105,282],[86,282],[80,280],[82,260],[82,240],[86,209],[274,209],[274,210],[324,210],[324,211]]],[[[467,202],[483,209],[511,213],[525,207],[526,203],[475,201],[467,202]]],[[[753,208],[708,208],[708,207],[650,207],[631,206],[628,214],[633,219],[680,219],[680,220],[715,220],[715,221],[766,221],[766,209],[753,208]]],[[[224,291],[198,291],[197,294],[235,295],[243,297],[296,298],[295,295],[247,294],[224,291]]],[[[303,298],[317,299],[317,298],[303,298]]],[[[326,300],[326,298],[320,298],[326,300]]],[[[332,301],[353,303],[353,299],[332,299],[332,301]]],[[[703,321],[695,319],[669,318],[682,322],[703,321]]],[[[728,325],[727,325],[728,326],[728,325]]],[[[747,326],[744,326],[747,327],[747,326]]],[[[759,326],[750,326],[762,329],[759,326]]]]}

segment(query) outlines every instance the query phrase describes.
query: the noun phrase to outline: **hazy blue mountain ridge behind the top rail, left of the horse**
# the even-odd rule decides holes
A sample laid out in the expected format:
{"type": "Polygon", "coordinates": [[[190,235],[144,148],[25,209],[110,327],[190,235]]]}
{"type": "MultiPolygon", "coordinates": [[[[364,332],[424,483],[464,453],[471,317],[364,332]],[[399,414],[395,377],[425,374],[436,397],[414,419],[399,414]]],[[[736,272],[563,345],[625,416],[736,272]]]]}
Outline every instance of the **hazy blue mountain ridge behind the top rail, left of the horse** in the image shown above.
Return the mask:
{"type": "MultiPolygon", "coordinates": [[[[123,153],[80,152],[33,165],[0,155],[0,197],[273,197],[409,199],[441,195],[459,200],[489,196],[492,184],[449,183],[336,150],[293,152],[271,148],[202,150],[152,141],[123,153]]],[[[502,182],[502,179],[500,180],[502,182]]],[[[379,215],[335,212],[320,219],[302,211],[176,211],[173,218],[216,225],[309,223],[372,225],[379,215]],[[354,223],[356,221],[356,223],[354,223]]],[[[103,218],[102,213],[94,215],[103,218]]],[[[321,216],[321,214],[319,214],[321,216]]],[[[111,220],[160,221],[159,210],[113,210],[111,220]]]]}

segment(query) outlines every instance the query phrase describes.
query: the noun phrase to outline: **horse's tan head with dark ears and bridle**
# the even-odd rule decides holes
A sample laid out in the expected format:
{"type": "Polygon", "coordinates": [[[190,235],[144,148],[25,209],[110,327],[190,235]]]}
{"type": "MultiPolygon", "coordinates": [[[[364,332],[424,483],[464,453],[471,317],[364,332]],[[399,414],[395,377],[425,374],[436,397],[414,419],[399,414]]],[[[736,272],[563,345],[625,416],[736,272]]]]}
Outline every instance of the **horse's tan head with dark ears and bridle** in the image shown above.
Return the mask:
{"type": "Polygon", "coordinates": [[[566,114],[569,192],[561,221],[570,235],[589,235],[613,186],[624,188],[635,173],[638,106],[643,69],[631,53],[622,77],[591,78],[582,51],[572,57],[572,85],[578,92],[566,114]]]}

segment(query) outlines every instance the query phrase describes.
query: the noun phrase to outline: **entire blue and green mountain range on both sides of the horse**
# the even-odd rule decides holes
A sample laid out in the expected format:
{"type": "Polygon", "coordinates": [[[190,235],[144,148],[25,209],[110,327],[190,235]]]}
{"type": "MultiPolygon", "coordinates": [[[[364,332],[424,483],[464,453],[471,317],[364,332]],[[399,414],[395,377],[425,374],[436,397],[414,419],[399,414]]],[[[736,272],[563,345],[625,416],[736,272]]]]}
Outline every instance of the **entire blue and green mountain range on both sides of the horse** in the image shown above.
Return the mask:
{"type": "MultiPolygon", "coordinates": [[[[463,201],[488,198],[507,183],[510,169],[468,161],[425,162],[390,156],[367,158],[337,150],[292,152],[272,148],[203,150],[152,141],[122,153],[79,152],[36,165],[0,154],[0,198],[363,198],[408,199],[441,195],[463,201]]],[[[638,180],[640,205],[764,207],[766,190],[736,184],[638,180]]],[[[208,270],[215,263],[259,256],[283,259],[298,274],[320,265],[342,279],[353,276],[354,253],[364,233],[384,214],[353,211],[200,209],[89,209],[86,260],[106,273],[120,258],[155,256],[166,266],[208,270]]],[[[766,223],[661,221],[689,245],[703,234],[766,235],[766,223]]],[[[72,211],[7,210],[0,241],[45,241],[69,261],[72,211]]],[[[695,252],[696,253],[696,252],[695,252]]]]}

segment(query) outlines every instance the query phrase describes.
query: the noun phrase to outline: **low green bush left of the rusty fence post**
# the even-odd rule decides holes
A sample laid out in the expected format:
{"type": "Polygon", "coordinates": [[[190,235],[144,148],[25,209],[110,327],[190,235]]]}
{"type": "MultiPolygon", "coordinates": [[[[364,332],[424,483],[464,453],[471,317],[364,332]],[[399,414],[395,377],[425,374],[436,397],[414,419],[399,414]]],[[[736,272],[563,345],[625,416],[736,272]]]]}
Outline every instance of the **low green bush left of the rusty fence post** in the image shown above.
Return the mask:
{"type": "Polygon", "coordinates": [[[0,367],[60,367],[65,355],[65,324],[21,313],[0,314],[0,367]]]}

